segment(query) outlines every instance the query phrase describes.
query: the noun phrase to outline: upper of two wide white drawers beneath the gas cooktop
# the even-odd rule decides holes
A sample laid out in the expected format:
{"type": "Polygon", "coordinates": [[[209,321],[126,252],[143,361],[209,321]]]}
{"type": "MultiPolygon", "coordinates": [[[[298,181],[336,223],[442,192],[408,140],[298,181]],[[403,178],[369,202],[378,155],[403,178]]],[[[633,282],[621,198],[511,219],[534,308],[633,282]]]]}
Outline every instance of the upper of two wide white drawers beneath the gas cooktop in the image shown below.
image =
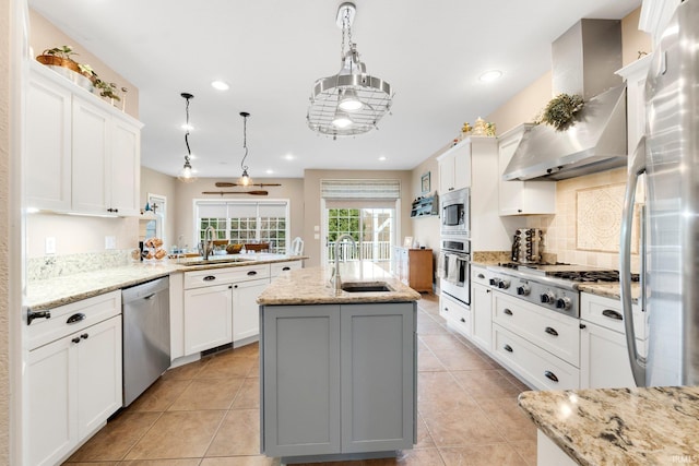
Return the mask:
{"type": "Polygon", "coordinates": [[[524,339],[580,366],[580,321],[557,312],[540,309],[500,292],[494,292],[494,322],[524,339]]]}

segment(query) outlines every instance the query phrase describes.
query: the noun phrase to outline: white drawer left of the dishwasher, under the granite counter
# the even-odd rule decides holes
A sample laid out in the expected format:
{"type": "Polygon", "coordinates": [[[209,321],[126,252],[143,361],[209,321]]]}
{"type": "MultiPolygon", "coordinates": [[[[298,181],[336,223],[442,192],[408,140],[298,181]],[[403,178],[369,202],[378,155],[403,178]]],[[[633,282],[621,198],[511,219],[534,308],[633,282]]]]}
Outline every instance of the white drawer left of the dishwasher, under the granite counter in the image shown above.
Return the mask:
{"type": "Polygon", "coordinates": [[[121,291],[83,299],[50,312],[50,319],[34,320],[27,328],[29,350],[120,314],[121,291]]]}

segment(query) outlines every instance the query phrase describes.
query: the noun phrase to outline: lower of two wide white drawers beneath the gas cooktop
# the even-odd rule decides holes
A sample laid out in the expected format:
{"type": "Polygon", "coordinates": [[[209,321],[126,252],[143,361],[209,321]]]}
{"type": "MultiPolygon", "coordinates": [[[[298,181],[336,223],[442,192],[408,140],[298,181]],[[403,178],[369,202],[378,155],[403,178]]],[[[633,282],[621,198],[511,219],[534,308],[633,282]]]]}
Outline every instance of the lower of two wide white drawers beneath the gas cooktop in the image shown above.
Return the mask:
{"type": "Polygon", "coordinates": [[[544,351],[536,345],[493,325],[493,348],[498,359],[538,390],[578,389],[578,368],[544,351]]]}

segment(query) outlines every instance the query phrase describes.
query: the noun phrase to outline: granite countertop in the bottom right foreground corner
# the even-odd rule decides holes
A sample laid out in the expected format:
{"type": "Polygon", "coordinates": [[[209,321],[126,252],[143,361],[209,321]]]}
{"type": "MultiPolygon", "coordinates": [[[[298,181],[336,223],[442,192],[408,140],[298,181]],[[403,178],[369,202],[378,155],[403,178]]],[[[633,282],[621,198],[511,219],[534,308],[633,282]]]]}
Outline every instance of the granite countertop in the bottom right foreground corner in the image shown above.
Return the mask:
{"type": "Polygon", "coordinates": [[[523,392],[519,405],[581,465],[699,463],[699,386],[523,392]]]}

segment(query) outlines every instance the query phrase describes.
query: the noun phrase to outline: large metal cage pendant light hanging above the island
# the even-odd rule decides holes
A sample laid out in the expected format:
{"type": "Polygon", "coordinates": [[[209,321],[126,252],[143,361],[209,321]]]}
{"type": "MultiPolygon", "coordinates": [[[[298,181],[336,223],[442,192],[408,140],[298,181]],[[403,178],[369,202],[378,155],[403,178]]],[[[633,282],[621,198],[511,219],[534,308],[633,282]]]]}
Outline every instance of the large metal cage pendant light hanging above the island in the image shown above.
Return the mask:
{"type": "Polygon", "coordinates": [[[306,120],[320,134],[352,136],[377,128],[391,109],[393,91],[380,77],[366,72],[357,45],[352,41],[352,22],[356,7],[344,2],[337,10],[336,23],[342,27],[341,69],[333,76],[313,84],[306,120]]]}

